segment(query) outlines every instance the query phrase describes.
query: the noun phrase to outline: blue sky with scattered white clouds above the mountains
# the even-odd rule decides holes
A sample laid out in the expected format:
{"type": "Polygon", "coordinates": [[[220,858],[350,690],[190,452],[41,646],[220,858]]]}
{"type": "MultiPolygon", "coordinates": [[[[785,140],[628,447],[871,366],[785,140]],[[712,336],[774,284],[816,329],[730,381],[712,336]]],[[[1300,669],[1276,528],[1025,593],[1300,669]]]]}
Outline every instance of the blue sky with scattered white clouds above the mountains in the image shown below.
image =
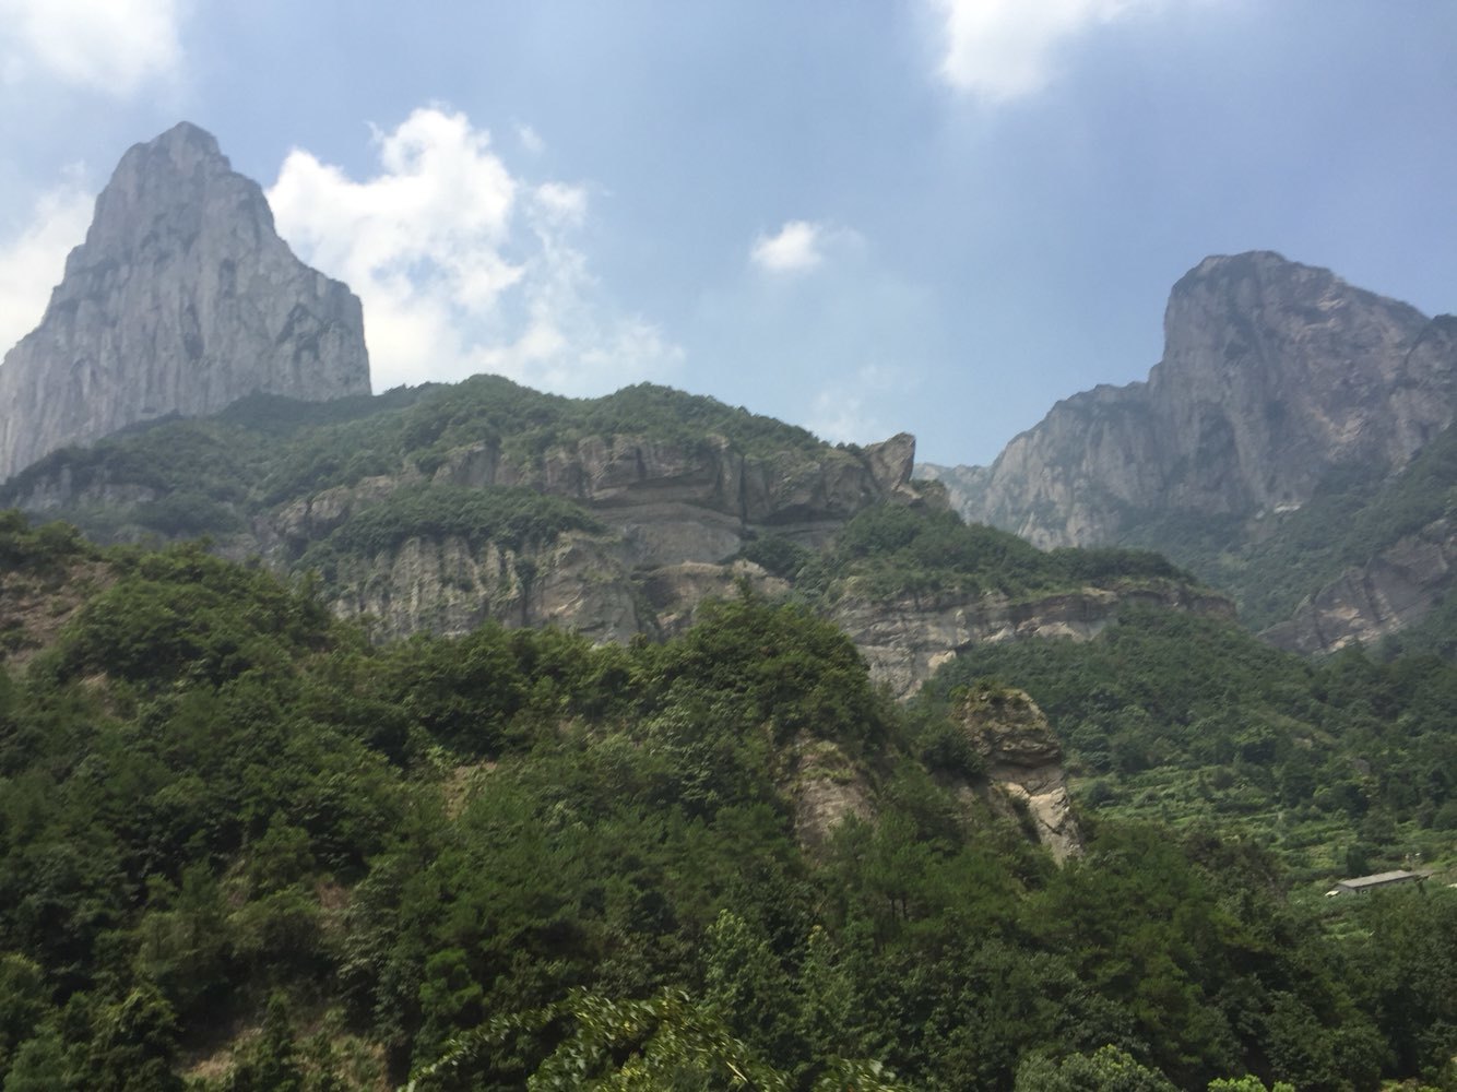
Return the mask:
{"type": "Polygon", "coordinates": [[[989,463],[1252,249],[1457,312],[1453,0],[0,0],[0,351],[178,121],[376,390],[640,381],[989,463]]]}

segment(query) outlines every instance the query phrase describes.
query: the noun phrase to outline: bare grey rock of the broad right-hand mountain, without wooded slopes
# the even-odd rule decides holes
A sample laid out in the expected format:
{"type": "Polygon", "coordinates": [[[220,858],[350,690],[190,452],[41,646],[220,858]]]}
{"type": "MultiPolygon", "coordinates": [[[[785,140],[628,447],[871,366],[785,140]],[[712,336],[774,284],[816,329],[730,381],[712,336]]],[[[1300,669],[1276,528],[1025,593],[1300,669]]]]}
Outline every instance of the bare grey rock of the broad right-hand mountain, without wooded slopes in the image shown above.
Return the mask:
{"type": "Polygon", "coordinates": [[[1453,421],[1450,323],[1279,255],[1208,258],[1173,288],[1147,383],[1059,402],[989,469],[919,472],[1043,547],[1151,514],[1288,511],[1332,467],[1396,470],[1453,421]]]}

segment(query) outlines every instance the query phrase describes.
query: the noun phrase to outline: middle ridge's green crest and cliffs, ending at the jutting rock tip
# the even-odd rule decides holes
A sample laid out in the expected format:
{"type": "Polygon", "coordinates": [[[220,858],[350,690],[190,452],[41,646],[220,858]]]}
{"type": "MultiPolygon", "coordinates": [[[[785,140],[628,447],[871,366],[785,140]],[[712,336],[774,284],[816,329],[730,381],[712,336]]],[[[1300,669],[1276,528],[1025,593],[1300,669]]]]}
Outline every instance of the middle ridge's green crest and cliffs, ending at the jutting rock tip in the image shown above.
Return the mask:
{"type": "Polygon", "coordinates": [[[382,636],[494,617],[627,639],[731,590],[721,562],[758,534],[813,546],[867,505],[916,502],[914,450],[835,448],[664,387],[577,400],[482,376],[133,430],[41,460],[0,504],[315,569],[382,636]]]}

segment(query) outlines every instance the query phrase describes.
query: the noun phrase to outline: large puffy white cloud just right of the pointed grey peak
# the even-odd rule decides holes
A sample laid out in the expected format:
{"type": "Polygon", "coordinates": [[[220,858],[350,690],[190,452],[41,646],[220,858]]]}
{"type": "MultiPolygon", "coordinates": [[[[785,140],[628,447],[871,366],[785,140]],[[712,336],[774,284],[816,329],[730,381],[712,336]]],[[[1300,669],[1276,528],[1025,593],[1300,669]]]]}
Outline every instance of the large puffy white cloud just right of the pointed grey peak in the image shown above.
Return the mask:
{"type": "Polygon", "coordinates": [[[357,182],[303,150],[268,191],[280,233],[364,303],[376,389],[494,371],[567,395],[663,379],[682,358],[603,298],[573,233],[587,191],[513,175],[465,114],[374,131],[357,182]]]}

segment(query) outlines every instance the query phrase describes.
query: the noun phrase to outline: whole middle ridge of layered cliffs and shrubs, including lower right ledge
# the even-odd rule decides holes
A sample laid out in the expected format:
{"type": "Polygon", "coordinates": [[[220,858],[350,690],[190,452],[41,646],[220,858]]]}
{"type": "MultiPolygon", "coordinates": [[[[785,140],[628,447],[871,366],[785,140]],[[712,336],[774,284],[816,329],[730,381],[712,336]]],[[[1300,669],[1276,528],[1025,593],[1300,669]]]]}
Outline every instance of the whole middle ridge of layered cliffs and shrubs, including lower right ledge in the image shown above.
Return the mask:
{"type": "Polygon", "coordinates": [[[108,542],[211,534],[318,574],[377,639],[487,619],[661,638],[747,581],[845,626],[898,695],[966,644],[1093,633],[1131,597],[1228,610],[1157,556],[966,527],[909,483],[914,454],[664,387],[574,400],[481,376],[133,430],[41,460],[0,504],[108,542]]]}

